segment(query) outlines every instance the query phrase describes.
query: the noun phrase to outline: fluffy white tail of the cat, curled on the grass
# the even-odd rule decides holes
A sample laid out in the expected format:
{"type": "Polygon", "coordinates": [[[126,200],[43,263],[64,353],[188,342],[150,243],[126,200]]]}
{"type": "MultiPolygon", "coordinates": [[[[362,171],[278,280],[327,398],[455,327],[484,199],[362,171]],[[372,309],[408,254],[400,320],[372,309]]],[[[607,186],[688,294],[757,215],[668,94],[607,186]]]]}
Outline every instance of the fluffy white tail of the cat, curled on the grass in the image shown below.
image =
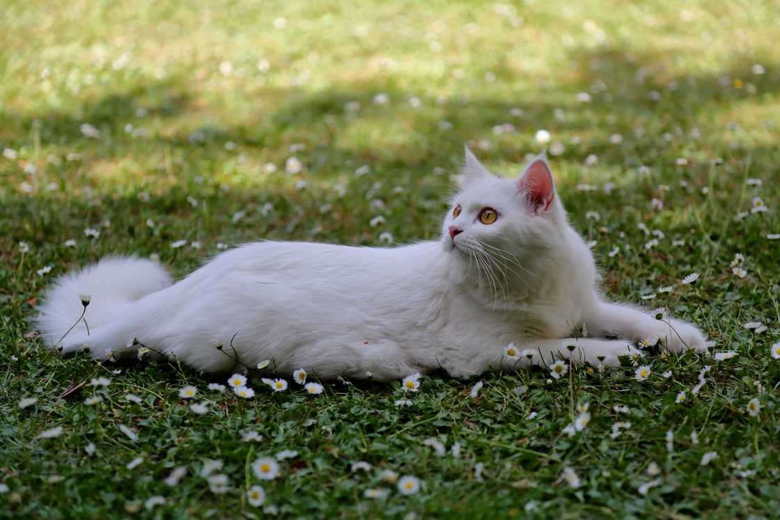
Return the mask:
{"type": "Polygon", "coordinates": [[[133,302],[171,284],[171,275],[152,260],[134,256],[104,258],[55,282],[40,307],[37,328],[53,348],[74,341],[87,342],[90,333],[121,320],[133,302]],[[88,301],[86,309],[82,300],[88,301]],[[84,319],[79,320],[82,312],[84,319]],[[71,327],[73,330],[62,338],[71,327]]]}

